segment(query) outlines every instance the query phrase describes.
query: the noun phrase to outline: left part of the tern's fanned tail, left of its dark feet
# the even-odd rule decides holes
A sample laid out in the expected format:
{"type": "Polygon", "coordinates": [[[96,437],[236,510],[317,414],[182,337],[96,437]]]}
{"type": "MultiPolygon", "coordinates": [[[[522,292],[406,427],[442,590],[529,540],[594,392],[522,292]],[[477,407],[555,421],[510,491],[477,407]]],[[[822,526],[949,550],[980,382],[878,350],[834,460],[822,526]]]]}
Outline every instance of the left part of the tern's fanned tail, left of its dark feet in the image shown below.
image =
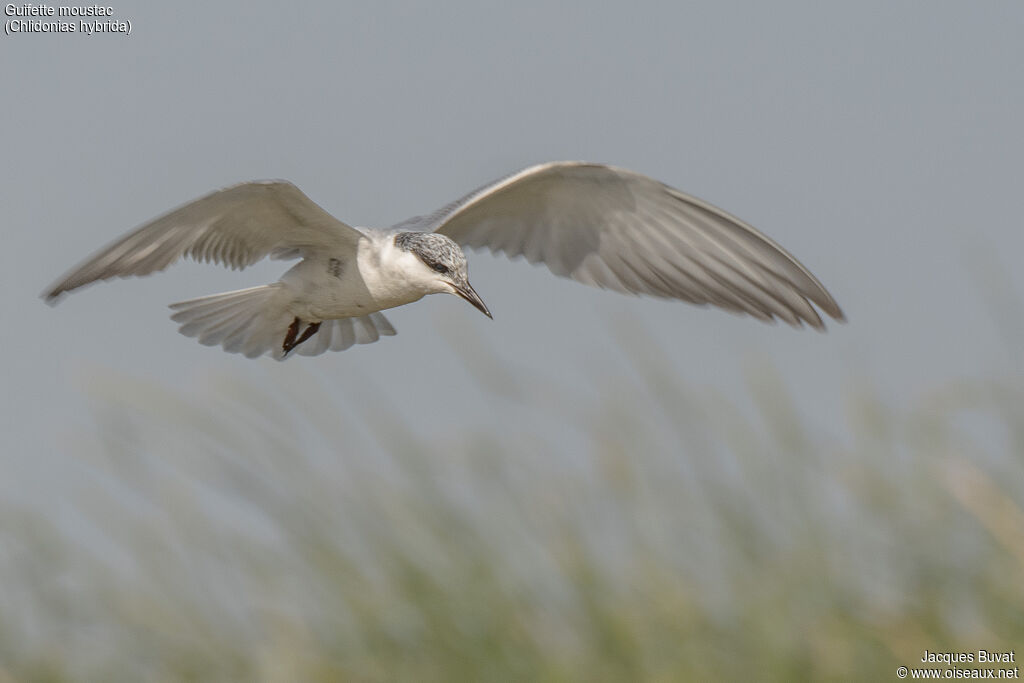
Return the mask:
{"type": "Polygon", "coordinates": [[[181,334],[198,337],[201,344],[220,344],[250,358],[267,351],[281,358],[282,342],[294,319],[287,304],[284,286],[273,283],[172,303],[177,312],[171,319],[181,324],[181,334]]]}

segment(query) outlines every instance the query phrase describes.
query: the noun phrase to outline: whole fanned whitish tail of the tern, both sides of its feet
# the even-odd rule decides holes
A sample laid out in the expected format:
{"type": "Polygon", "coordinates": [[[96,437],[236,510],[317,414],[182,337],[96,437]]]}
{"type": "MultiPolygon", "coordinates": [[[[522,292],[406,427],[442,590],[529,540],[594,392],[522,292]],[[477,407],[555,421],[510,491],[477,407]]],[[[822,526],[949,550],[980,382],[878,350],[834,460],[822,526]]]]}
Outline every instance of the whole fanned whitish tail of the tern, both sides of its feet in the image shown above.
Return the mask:
{"type": "MultiPolygon", "coordinates": [[[[178,329],[181,334],[198,337],[201,344],[220,344],[225,351],[244,353],[250,358],[269,353],[282,360],[286,357],[285,338],[295,319],[288,310],[289,298],[281,283],[251,287],[172,303],[171,308],[176,312],[171,319],[181,324],[178,329]]],[[[303,322],[303,328],[308,323],[303,322]]],[[[394,328],[381,313],[324,321],[316,333],[297,345],[292,353],[317,355],[327,350],[341,351],[352,344],[370,344],[393,334],[394,328]]]]}

